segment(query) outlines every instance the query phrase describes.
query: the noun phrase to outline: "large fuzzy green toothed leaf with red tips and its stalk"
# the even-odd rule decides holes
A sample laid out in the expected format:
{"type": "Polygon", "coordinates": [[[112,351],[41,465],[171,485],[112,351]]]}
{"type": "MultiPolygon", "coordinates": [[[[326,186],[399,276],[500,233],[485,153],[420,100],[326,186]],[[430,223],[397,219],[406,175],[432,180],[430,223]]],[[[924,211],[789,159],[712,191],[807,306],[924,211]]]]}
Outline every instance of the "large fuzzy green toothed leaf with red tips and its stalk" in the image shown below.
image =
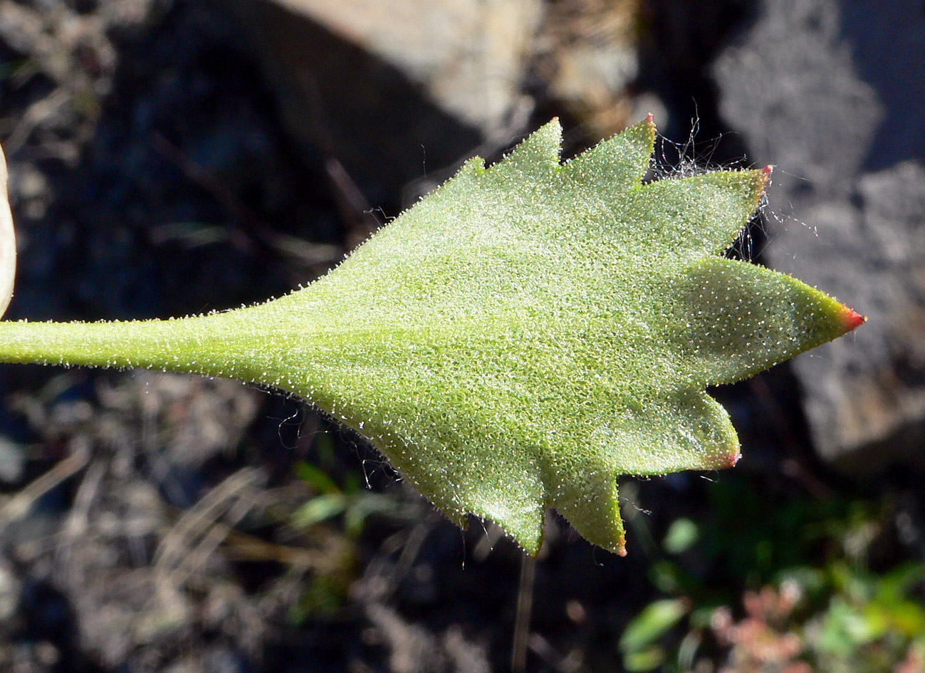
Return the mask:
{"type": "Polygon", "coordinates": [[[166,368],[261,383],[370,438],[452,520],[531,554],[553,506],[623,554],[616,478],[734,465],[708,385],[851,330],[854,311],[722,258],[767,170],[642,184],[638,124],[564,165],[552,121],[455,178],[327,276],[166,321],[0,323],[10,362],[166,368]]]}

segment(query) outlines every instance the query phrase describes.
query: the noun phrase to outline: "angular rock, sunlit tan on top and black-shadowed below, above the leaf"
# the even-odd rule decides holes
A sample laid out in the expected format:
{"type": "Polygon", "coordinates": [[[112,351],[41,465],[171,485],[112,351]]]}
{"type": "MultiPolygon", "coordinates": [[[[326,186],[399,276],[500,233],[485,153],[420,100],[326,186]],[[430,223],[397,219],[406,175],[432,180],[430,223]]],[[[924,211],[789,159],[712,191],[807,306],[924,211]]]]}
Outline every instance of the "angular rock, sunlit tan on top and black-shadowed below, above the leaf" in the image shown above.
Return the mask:
{"type": "Polygon", "coordinates": [[[290,133],[372,202],[522,131],[539,0],[223,0],[290,133]]]}

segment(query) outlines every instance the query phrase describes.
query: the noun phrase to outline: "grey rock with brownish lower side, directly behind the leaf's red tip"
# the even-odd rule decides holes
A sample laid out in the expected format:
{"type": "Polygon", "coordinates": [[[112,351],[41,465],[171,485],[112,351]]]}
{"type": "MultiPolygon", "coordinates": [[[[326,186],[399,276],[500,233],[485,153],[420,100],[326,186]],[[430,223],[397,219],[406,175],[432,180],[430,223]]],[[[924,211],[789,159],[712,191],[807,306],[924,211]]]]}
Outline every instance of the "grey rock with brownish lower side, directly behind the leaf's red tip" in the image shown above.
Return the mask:
{"type": "Polygon", "coordinates": [[[869,322],[794,366],[820,455],[869,476],[925,464],[925,168],[862,174],[848,200],[798,203],[811,226],[774,226],[778,268],[835,293],[869,322]]]}

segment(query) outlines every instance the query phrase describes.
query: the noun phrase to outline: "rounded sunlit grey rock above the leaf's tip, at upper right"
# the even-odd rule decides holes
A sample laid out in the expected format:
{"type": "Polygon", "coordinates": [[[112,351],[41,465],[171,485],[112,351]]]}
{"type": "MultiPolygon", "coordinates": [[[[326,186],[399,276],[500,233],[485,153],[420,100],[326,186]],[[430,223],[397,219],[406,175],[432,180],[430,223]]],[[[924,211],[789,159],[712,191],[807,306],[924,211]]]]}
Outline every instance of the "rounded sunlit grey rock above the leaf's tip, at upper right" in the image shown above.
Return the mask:
{"type": "Polygon", "coordinates": [[[852,191],[882,109],[857,77],[835,0],[765,0],[745,42],[717,61],[716,75],[722,116],[745,135],[751,158],[782,168],[772,198],[791,199],[808,186],[852,191]]]}

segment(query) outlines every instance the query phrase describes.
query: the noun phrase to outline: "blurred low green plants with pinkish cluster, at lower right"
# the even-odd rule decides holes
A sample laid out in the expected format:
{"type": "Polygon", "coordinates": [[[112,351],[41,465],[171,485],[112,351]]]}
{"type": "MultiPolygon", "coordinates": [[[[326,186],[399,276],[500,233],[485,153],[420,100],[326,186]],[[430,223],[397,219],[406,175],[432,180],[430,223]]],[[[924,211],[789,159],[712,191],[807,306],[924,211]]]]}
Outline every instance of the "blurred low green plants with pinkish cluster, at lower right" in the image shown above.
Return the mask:
{"type": "Polygon", "coordinates": [[[649,550],[658,592],[623,631],[623,667],[923,670],[925,563],[895,546],[894,494],[771,495],[765,478],[709,483],[707,516],[675,519],[649,550]]]}

